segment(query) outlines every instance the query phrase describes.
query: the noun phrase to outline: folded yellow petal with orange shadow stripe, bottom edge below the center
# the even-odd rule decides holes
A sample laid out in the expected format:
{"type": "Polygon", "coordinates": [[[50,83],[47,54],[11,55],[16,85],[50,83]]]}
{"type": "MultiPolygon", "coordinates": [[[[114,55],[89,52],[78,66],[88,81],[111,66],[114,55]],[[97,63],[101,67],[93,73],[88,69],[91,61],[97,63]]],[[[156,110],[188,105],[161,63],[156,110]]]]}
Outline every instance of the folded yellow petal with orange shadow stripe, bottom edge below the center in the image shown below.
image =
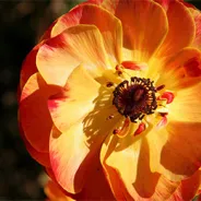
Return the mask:
{"type": "Polygon", "coordinates": [[[102,147],[102,164],[117,200],[166,200],[179,182],[172,182],[150,170],[145,139],[107,139],[102,147]],[[108,141],[109,140],[109,141],[108,141]],[[133,143],[128,145],[126,142],[133,143]],[[132,142],[131,142],[132,141],[132,142]]]}

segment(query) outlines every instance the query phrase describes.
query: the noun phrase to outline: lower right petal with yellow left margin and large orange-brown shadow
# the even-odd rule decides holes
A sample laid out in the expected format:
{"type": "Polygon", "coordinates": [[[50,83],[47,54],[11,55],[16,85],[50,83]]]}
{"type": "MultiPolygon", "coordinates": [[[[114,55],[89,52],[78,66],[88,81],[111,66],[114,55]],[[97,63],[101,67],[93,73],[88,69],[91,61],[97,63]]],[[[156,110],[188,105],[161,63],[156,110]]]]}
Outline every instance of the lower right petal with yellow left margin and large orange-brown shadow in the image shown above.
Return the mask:
{"type": "MultiPolygon", "coordinates": [[[[187,115],[186,115],[187,116],[187,115]]],[[[147,134],[151,169],[173,181],[191,176],[201,164],[201,123],[170,121],[147,134]]]]}

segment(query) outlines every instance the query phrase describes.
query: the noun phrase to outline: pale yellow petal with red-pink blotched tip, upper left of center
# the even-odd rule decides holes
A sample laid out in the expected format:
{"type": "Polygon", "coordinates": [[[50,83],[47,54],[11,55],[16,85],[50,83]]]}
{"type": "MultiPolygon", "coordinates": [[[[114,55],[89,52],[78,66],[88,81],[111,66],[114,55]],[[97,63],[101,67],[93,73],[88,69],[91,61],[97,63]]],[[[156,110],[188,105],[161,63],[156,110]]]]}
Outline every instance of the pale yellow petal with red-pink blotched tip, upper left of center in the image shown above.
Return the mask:
{"type": "Polygon", "coordinates": [[[109,67],[99,31],[94,25],[78,25],[47,40],[38,50],[38,71],[48,84],[63,86],[79,64],[94,76],[109,67]]]}

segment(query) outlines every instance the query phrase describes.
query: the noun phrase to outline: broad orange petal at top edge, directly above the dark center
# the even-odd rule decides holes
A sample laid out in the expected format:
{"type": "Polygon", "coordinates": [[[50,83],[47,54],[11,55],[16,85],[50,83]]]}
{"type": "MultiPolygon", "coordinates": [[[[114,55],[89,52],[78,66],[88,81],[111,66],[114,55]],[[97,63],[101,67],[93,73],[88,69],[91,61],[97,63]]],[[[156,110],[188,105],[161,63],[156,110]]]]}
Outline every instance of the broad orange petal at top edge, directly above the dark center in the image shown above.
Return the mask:
{"type": "Polygon", "coordinates": [[[102,5],[122,23],[125,60],[146,62],[168,31],[166,14],[162,7],[153,1],[138,0],[105,0],[102,5]],[[129,58],[128,54],[132,56],[129,58]]]}

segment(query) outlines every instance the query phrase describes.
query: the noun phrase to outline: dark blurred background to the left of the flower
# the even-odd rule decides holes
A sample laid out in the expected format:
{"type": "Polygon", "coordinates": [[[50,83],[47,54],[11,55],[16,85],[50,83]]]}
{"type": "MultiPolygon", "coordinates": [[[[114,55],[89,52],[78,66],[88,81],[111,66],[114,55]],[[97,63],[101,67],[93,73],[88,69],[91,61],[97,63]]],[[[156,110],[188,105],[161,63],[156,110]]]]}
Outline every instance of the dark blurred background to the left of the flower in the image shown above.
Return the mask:
{"type": "MultiPolygon", "coordinates": [[[[78,2],[0,0],[0,200],[45,198],[44,172],[31,158],[19,134],[16,88],[20,69],[51,22],[78,2]]],[[[201,1],[191,3],[201,9],[201,1]]]]}

